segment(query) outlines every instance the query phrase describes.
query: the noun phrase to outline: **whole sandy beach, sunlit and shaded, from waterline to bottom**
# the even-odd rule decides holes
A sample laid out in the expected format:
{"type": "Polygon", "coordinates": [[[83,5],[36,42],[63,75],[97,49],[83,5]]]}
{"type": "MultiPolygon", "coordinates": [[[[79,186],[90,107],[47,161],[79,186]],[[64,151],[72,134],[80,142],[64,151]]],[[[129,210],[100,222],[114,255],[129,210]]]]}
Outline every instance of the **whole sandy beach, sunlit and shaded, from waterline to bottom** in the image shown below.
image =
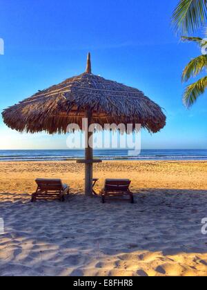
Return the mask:
{"type": "Polygon", "coordinates": [[[1,162],[0,276],[206,276],[207,162],[103,162],[130,178],[135,204],[83,195],[83,165],[1,162]],[[66,202],[30,203],[37,177],[70,184],[66,202]]]}

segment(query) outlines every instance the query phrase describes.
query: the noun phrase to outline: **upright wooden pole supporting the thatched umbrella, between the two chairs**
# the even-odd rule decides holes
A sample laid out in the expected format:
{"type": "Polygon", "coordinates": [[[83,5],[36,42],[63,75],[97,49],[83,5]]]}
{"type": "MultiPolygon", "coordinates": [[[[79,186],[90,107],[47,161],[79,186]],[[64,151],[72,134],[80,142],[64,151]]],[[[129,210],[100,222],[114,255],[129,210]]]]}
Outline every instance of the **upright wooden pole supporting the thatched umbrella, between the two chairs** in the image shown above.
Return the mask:
{"type": "MultiPolygon", "coordinates": [[[[92,122],[92,113],[90,110],[86,112],[86,118],[88,119],[88,127],[92,122]]],[[[92,132],[86,132],[86,149],[85,149],[85,194],[92,196],[92,144],[89,144],[89,139],[92,139],[92,132]]]]}

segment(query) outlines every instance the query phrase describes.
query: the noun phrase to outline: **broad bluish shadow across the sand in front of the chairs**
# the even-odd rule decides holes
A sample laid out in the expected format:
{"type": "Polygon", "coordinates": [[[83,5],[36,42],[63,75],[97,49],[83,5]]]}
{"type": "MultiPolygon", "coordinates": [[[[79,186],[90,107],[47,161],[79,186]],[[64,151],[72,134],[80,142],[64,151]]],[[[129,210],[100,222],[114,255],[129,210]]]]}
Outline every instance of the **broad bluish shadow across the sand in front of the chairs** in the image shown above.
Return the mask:
{"type": "MultiPolygon", "coordinates": [[[[1,193],[0,218],[6,233],[0,247],[10,247],[6,261],[21,259],[26,267],[32,260],[37,264],[43,260],[57,269],[75,267],[72,275],[83,273],[81,269],[94,259],[100,269],[103,256],[116,257],[119,266],[132,259],[130,255],[150,261],[148,253],[168,259],[207,253],[207,235],[201,233],[207,191],[134,189],[134,193],[135,204],[110,200],[102,204],[99,197],[88,199],[81,193],[71,194],[64,203],[32,204],[30,195],[1,193]]],[[[207,266],[207,260],[202,263],[207,266]]],[[[164,274],[161,268],[157,271],[164,274]]]]}

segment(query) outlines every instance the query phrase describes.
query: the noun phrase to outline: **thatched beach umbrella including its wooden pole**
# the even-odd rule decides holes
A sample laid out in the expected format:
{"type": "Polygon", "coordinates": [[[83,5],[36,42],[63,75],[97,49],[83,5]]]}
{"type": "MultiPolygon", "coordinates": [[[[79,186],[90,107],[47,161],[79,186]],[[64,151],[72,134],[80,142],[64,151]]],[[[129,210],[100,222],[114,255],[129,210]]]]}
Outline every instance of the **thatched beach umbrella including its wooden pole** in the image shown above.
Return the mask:
{"type": "MultiPolygon", "coordinates": [[[[3,110],[3,121],[19,132],[67,133],[68,124],[82,128],[82,118],[88,126],[100,124],[141,124],[156,133],[166,125],[161,108],[136,88],[93,75],[90,54],[86,72],[66,79],[61,84],[41,90],[19,104],[3,110]]],[[[86,138],[86,195],[92,195],[92,148],[86,138]]],[[[87,136],[87,135],[86,135],[87,136]]]]}

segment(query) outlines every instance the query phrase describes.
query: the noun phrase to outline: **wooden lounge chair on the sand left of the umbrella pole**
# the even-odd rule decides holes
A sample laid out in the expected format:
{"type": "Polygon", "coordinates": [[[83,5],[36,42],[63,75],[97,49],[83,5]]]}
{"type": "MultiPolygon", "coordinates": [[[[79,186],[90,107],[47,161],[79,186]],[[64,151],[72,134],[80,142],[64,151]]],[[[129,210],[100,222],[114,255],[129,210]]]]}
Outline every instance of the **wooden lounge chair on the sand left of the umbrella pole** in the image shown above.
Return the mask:
{"type": "Polygon", "coordinates": [[[32,194],[31,202],[36,200],[65,200],[65,195],[69,194],[70,187],[63,184],[61,180],[37,179],[37,191],[32,194]]]}

